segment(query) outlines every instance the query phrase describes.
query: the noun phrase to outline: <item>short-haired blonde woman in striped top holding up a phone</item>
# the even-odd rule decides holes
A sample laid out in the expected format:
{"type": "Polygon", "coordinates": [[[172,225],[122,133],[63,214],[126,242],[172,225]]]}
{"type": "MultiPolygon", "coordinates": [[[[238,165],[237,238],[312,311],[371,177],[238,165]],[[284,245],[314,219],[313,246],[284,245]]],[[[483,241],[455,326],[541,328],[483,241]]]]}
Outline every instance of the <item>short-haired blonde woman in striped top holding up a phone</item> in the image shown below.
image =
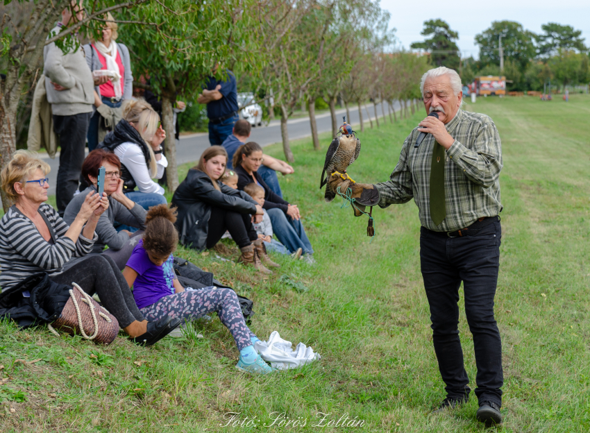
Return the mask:
{"type": "Polygon", "coordinates": [[[165,316],[146,321],[115,262],[102,254],[88,255],[98,238],[96,224],[109,207],[108,198],[93,191],[85,194],[68,226],[45,203],[49,170],[49,164],[37,153],[16,151],[0,173],[2,188],[14,203],[0,220],[2,291],[35,273],[46,272],[53,282],[68,286],[76,282],[87,294],[98,294],[135,343],[151,345],[165,337],[180,320],[165,316]]]}

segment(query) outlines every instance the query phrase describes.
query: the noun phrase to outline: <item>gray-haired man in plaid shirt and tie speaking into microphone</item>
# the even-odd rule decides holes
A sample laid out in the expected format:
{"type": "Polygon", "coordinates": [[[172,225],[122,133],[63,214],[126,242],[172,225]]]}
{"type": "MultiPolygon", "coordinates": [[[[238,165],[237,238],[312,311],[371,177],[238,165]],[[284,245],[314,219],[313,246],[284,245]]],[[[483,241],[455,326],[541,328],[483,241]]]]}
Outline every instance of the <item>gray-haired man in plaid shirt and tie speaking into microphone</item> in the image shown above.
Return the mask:
{"type": "MultiPolygon", "coordinates": [[[[399,162],[387,182],[354,183],[333,176],[334,190],[351,188],[362,205],[418,206],[421,271],[432,321],[432,339],[446,398],[435,413],[467,401],[471,389],[459,339],[459,289],[473,334],[480,409],[487,425],[502,422],[503,371],[494,296],[500,262],[500,136],[485,114],[461,110],[461,78],[453,69],[426,72],[420,88],[428,116],[405,139],[399,162]],[[425,138],[418,144],[421,133],[425,138]]],[[[346,176],[343,176],[346,177],[346,176]]]]}

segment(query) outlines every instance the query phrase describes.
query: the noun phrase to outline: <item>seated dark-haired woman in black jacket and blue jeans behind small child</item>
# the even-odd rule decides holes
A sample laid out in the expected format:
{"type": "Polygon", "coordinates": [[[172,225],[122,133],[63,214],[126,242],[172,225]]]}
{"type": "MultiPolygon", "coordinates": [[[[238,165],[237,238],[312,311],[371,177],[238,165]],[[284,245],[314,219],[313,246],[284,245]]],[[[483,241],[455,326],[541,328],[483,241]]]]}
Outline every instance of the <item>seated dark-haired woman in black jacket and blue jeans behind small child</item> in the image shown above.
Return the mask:
{"type": "Polygon", "coordinates": [[[260,144],[248,142],[237,148],[233,155],[233,167],[237,173],[237,189],[244,189],[248,183],[255,182],[264,188],[264,209],[269,214],[273,232],[281,244],[289,251],[303,249],[301,258],[307,263],[314,264],[314,250],[310,239],[307,239],[305,228],[301,223],[301,215],[297,205],[280,198],[262,180],[258,168],[262,164],[262,148],[260,144]]]}

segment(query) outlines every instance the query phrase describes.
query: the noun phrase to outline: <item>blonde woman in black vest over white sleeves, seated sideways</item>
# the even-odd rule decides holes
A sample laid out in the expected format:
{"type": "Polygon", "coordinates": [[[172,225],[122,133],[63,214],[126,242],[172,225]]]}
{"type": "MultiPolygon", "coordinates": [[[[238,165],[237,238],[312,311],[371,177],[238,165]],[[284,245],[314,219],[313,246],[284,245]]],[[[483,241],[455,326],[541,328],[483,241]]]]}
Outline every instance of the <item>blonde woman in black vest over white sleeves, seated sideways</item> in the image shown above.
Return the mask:
{"type": "Polygon", "coordinates": [[[152,180],[162,178],[168,166],[161,146],[166,133],[159,124],[160,117],[149,103],[130,99],[123,105],[123,119],[99,144],[119,157],[124,193],[146,210],[167,203],[164,188],[152,180]]]}

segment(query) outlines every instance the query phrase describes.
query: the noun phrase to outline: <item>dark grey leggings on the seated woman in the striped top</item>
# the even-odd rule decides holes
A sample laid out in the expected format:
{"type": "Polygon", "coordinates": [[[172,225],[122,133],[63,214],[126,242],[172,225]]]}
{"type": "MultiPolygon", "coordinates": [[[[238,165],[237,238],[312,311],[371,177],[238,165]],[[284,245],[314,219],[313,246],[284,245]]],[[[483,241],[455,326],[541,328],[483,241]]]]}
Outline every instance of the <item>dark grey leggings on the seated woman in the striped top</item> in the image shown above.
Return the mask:
{"type": "Polygon", "coordinates": [[[51,277],[51,280],[68,286],[75,282],[87,294],[99,294],[101,303],[115,316],[121,328],[133,321],[145,320],[137,309],[123,274],[108,256],[95,254],[83,257],[71,268],[51,277]]]}

